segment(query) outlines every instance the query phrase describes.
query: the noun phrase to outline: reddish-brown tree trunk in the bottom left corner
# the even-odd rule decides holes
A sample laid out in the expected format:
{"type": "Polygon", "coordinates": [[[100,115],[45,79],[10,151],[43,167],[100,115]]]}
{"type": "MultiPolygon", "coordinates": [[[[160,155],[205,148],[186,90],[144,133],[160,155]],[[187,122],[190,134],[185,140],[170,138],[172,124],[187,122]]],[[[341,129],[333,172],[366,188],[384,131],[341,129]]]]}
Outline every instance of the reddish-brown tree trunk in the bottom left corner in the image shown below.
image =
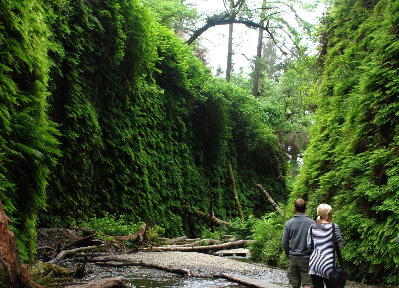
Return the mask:
{"type": "Polygon", "coordinates": [[[8,221],[10,218],[4,214],[0,201],[0,287],[30,287],[28,275],[22,265],[15,237],[8,226],[8,221]]]}

